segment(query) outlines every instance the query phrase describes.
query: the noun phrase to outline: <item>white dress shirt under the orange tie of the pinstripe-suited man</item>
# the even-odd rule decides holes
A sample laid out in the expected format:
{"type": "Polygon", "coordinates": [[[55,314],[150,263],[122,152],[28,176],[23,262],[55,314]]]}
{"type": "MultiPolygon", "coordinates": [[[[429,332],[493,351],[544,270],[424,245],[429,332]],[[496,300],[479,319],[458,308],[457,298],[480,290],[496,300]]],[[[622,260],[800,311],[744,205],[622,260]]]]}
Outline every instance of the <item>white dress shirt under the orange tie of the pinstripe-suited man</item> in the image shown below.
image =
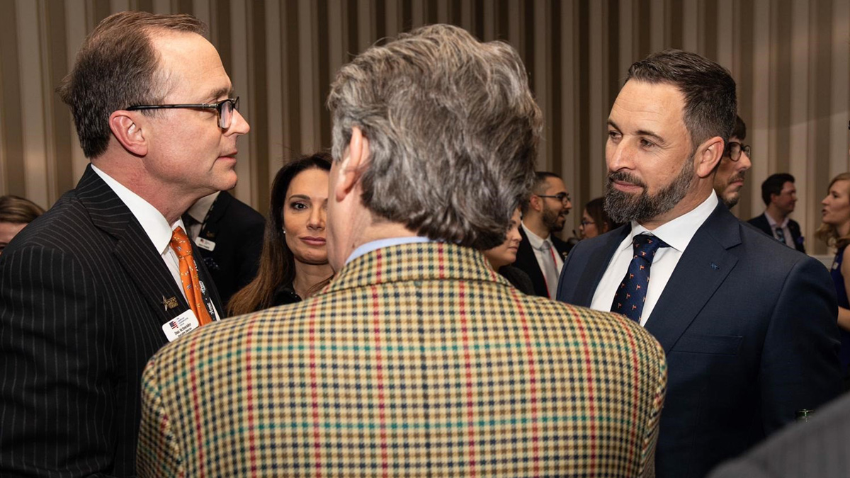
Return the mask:
{"type": "MultiPolygon", "coordinates": [[[[176,229],[177,226],[182,227],[184,231],[186,230],[186,227],[183,225],[183,219],[178,218],[173,225],[168,225],[165,216],[158,209],[151,206],[150,202],[145,201],[138,194],[128,190],[126,186],[113,179],[109,174],[101,171],[94,164],[92,165],[92,169],[94,169],[94,172],[100,176],[100,179],[104,180],[112,191],[115,191],[116,196],[127,205],[127,208],[130,209],[130,212],[133,213],[133,216],[142,225],[142,229],[147,233],[150,242],[153,243],[156,251],[160,253],[162,261],[171,272],[171,276],[174,279],[174,283],[177,284],[177,288],[180,289],[180,293],[183,293],[184,299],[186,299],[186,302],[189,302],[189,299],[186,298],[186,292],[183,290],[183,282],[180,281],[180,259],[171,248],[172,230],[176,229]]],[[[215,314],[214,319],[219,320],[218,310],[215,310],[215,314]]]]}

